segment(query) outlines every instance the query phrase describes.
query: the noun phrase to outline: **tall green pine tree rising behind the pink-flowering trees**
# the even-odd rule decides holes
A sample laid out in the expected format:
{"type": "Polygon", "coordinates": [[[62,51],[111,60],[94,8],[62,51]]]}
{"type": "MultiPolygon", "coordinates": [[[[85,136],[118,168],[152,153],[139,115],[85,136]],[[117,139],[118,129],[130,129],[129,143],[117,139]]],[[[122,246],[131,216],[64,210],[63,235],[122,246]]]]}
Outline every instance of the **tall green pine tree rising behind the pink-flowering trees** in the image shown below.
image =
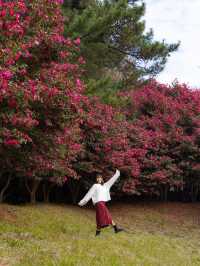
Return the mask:
{"type": "Polygon", "coordinates": [[[81,38],[89,93],[138,86],[160,73],[179,46],[145,32],[145,4],[137,0],[65,0],[63,13],[66,36],[81,38]]]}

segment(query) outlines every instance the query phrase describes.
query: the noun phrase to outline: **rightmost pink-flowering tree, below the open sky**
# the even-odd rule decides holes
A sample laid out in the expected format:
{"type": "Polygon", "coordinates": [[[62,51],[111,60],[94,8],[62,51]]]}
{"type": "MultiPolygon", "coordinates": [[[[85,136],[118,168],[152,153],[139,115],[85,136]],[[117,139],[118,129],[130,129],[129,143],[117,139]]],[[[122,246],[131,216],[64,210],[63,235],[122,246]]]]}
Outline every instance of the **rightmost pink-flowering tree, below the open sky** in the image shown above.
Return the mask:
{"type": "Polygon", "coordinates": [[[125,182],[124,191],[167,199],[169,191],[189,188],[194,200],[200,182],[199,91],[152,81],[130,97],[129,145],[141,149],[142,156],[137,178],[125,182]]]}

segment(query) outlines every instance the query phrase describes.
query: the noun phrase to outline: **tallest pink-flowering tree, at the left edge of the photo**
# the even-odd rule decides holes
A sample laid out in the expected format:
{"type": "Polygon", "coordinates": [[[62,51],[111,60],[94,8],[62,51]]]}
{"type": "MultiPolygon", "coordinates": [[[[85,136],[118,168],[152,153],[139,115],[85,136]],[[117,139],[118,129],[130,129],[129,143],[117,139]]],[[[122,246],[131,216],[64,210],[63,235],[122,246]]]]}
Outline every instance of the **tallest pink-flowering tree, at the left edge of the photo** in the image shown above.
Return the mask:
{"type": "Polygon", "coordinates": [[[60,2],[0,1],[1,200],[12,178],[25,178],[32,202],[42,180],[77,178],[82,60],[60,2]]]}

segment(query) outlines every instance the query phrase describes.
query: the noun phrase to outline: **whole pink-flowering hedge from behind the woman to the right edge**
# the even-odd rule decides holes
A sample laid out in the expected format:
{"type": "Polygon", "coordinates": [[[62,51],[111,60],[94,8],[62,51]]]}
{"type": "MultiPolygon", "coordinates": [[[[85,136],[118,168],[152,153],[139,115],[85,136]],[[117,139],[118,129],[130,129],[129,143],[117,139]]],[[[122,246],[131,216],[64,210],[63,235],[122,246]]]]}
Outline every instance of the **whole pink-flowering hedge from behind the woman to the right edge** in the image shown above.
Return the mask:
{"type": "Polygon", "coordinates": [[[200,92],[156,81],[136,91],[126,110],[93,99],[82,124],[84,156],[78,165],[95,178],[118,167],[122,193],[160,195],[199,186],[200,92]]]}

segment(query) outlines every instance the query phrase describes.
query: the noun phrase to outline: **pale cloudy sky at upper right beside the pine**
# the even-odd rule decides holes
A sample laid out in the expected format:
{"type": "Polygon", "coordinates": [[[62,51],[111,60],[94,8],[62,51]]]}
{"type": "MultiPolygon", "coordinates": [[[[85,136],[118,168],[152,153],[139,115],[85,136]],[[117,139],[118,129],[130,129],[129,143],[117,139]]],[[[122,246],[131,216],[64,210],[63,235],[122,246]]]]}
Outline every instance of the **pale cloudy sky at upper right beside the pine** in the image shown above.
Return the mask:
{"type": "Polygon", "coordinates": [[[175,79],[200,88],[200,0],[144,0],[147,29],[154,39],[181,41],[157,79],[170,84],[175,79]]]}

